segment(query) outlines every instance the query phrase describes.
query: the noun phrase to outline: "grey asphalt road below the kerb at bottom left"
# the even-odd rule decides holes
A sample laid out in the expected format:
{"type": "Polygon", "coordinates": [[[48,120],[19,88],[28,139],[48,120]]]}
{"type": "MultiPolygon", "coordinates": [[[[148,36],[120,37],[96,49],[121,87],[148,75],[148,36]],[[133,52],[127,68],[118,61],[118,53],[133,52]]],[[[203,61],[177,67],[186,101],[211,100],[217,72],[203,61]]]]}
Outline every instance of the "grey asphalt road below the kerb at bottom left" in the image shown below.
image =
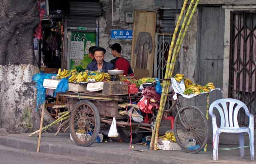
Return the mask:
{"type": "Polygon", "coordinates": [[[120,164],[86,156],[62,156],[19,150],[0,145],[0,164],[120,164]]]}

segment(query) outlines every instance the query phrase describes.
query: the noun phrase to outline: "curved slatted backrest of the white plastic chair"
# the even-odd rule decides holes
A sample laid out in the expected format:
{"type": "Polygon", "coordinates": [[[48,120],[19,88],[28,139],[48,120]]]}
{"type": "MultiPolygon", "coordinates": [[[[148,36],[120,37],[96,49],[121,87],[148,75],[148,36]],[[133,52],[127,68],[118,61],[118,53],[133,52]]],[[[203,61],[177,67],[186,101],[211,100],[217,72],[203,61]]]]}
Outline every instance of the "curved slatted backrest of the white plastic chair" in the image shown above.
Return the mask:
{"type": "Polygon", "coordinates": [[[220,127],[235,127],[239,128],[238,125],[238,111],[244,108],[245,113],[249,113],[247,106],[240,100],[226,98],[214,101],[209,108],[209,114],[214,115],[213,109],[218,109],[221,118],[220,127]]]}

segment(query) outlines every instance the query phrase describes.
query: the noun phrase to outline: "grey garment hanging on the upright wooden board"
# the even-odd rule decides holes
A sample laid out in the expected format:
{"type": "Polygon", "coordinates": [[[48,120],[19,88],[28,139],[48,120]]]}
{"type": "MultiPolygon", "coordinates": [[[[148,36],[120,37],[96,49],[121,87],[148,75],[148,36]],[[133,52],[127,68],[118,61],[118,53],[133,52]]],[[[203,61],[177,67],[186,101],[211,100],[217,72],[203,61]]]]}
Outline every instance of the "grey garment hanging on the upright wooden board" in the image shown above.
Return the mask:
{"type": "Polygon", "coordinates": [[[136,68],[147,68],[148,54],[152,53],[152,49],[151,34],[148,32],[140,32],[134,49],[134,53],[137,55],[136,68]]]}

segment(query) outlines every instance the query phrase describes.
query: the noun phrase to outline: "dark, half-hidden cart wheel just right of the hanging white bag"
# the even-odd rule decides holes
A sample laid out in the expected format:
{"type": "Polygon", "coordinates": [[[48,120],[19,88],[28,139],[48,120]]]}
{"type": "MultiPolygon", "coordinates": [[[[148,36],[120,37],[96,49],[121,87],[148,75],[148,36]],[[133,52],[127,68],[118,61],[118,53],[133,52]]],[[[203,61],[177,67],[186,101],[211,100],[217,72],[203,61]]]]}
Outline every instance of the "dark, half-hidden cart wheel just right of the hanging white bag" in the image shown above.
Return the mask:
{"type": "MultiPolygon", "coordinates": [[[[126,143],[130,143],[130,133],[131,133],[131,129],[130,127],[117,127],[118,133],[120,135],[120,137],[124,140],[124,142],[126,143]]],[[[142,129],[134,129],[132,128],[132,143],[138,143],[141,141],[141,139],[144,137],[144,133],[143,132],[138,132],[137,130],[142,130],[142,129]]]]}

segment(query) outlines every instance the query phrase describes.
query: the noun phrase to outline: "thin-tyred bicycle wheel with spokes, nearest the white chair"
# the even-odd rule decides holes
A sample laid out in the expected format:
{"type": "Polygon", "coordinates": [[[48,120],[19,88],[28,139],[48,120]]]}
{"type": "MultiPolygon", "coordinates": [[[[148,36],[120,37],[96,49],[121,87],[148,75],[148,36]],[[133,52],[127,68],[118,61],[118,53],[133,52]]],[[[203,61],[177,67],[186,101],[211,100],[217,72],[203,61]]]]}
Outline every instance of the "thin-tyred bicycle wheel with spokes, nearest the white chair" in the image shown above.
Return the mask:
{"type": "Polygon", "coordinates": [[[197,107],[183,107],[180,109],[180,117],[177,113],[174,119],[174,135],[182,150],[189,153],[199,152],[207,143],[208,133],[206,117],[197,107]]]}

